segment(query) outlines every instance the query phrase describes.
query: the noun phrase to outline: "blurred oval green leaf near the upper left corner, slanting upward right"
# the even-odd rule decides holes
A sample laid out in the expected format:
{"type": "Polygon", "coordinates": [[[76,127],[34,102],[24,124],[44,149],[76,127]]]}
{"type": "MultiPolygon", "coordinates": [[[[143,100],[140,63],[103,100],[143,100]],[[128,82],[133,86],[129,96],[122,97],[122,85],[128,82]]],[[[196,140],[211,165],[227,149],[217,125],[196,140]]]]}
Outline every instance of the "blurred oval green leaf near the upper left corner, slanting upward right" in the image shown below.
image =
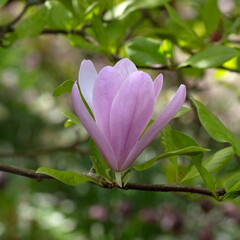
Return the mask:
{"type": "Polygon", "coordinates": [[[33,11],[31,15],[23,19],[16,27],[15,33],[18,39],[31,38],[41,33],[47,22],[47,9],[42,7],[33,11]]]}

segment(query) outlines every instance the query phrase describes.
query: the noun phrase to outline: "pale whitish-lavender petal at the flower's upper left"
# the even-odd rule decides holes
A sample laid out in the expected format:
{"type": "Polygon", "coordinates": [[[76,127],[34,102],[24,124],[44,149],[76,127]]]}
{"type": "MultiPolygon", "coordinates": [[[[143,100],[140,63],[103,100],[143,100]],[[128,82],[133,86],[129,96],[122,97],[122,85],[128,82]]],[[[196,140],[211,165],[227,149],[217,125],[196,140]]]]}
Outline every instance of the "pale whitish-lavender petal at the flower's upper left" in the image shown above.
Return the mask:
{"type": "Polygon", "coordinates": [[[97,71],[90,60],[83,60],[78,74],[78,84],[88,106],[93,110],[92,94],[97,71]]]}

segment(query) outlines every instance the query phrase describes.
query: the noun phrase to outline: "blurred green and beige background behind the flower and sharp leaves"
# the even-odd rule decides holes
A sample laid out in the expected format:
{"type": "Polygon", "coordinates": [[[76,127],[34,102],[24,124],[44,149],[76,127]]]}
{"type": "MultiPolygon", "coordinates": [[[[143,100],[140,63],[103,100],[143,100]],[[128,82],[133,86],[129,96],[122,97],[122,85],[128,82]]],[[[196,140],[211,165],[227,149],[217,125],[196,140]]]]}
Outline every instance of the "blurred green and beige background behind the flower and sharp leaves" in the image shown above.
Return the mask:
{"type": "MultiPolygon", "coordinates": [[[[25,1],[5,2],[6,5],[0,9],[0,26],[11,22],[26,4],[25,1]]],[[[144,70],[153,79],[159,72],[164,75],[156,113],[169,102],[180,83],[187,83],[189,95],[202,100],[240,136],[239,57],[228,62],[227,59],[224,65],[234,71],[196,67],[174,69],[175,63],[183,62],[187,54],[194,54],[206,44],[218,44],[219,41],[225,44],[229,39],[236,40],[232,44],[238,44],[240,1],[218,1],[219,18],[212,16],[209,10],[208,15],[201,18],[204,15],[200,14],[201,8],[211,1],[166,1],[171,2],[171,6],[189,24],[190,36],[192,29],[200,36],[200,43],[177,29],[161,1],[43,2],[29,8],[26,15],[31,20],[43,6],[50,9],[44,29],[71,32],[89,23],[98,27],[86,28],[90,43],[82,38],[75,39],[78,35],[74,34],[42,34],[43,29],[37,31],[31,23],[29,28],[37,32],[29,31],[28,25],[21,27],[19,24],[17,34],[20,32],[22,35],[14,35],[10,31],[3,39],[3,29],[0,28],[3,43],[0,47],[2,163],[30,169],[52,167],[78,172],[91,168],[87,132],[79,126],[64,128],[67,119],[61,112],[72,110],[70,95],[53,97],[54,89],[63,81],[77,79],[83,59],[91,59],[98,71],[105,65],[113,65],[117,56],[131,56],[139,66],[145,65],[143,67],[158,66],[156,64],[160,62],[165,67],[161,71],[144,70]],[[111,20],[111,9],[121,2],[122,9],[124,4],[128,4],[128,8],[122,12],[118,10],[117,19],[111,20]],[[75,13],[70,11],[72,6],[75,13]],[[99,26],[99,19],[106,12],[106,22],[99,26]],[[218,20],[216,26],[212,23],[214,19],[218,20]],[[210,26],[209,29],[206,26],[210,26]],[[105,33],[101,33],[103,30],[105,33]],[[143,56],[135,56],[135,48],[131,48],[131,44],[137,37],[171,40],[174,55],[169,53],[167,62],[158,55],[151,55],[154,49],[147,49],[150,57],[144,51],[143,56]],[[96,42],[96,46],[92,42],[96,42]],[[64,148],[74,143],[78,144],[64,148]],[[29,151],[32,151],[31,156],[27,154],[29,151]]],[[[212,2],[216,4],[216,1],[212,2]]],[[[34,1],[27,3],[34,4],[34,1]]],[[[142,54],[142,50],[139,52],[142,54]]],[[[203,147],[218,150],[223,146],[210,139],[199,125],[194,111],[174,120],[171,125],[193,136],[203,147]]],[[[161,151],[158,137],[138,161],[150,159],[161,151]]],[[[191,165],[190,160],[182,161],[187,167],[191,165]]],[[[134,174],[130,181],[167,183],[166,175],[170,168],[166,159],[148,171],[134,174]]],[[[237,170],[239,159],[234,158],[217,176],[221,179],[237,170]]],[[[194,183],[202,185],[200,178],[194,183]]],[[[240,201],[237,198],[217,203],[194,194],[108,190],[92,184],[71,187],[54,180],[37,182],[0,172],[0,239],[240,240],[240,201]]]]}

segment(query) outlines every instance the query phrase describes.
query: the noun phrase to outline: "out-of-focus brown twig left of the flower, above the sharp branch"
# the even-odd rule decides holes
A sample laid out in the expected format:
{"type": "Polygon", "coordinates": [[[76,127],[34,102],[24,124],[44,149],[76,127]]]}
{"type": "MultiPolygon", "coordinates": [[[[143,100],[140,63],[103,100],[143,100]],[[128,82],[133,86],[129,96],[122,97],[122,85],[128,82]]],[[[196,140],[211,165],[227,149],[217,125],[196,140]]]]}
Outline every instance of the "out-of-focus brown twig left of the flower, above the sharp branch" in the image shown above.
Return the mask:
{"type": "Polygon", "coordinates": [[[69,146],[60,146],[60,147],[54,147],[54,148],[44,148],[44,149],[36,149],[36,150],[31,150],[31,151],[24,151],[24,152],[13,152],[13,153],[0,153],[0,158],[7,158],[7,157],[13,157],[13,158],[18,158],[18,157],[24,157],[24,158],[31,158],[35,156],[40,156],[40,155],[47,155],[55,152],[74,152],[80,155],[86,155],[88,154],[88,151],[84,151],[81,149],[78,149],[78,146],[84,142],[86,142],[88,139],[85,140],[78,140],[74,142],[73,144],[69,146]]]}

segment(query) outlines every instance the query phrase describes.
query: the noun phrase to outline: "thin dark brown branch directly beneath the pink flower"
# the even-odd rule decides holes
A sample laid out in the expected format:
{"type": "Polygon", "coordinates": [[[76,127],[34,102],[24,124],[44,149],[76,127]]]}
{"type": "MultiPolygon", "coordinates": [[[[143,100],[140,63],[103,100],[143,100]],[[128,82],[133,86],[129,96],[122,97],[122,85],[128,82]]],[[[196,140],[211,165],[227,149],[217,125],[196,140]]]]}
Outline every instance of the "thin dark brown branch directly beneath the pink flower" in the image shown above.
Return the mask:
{"type": "MultiPolygon", "coordinates": [[[[12,173],[15,175],[20,175],[32,179],[36,179],[37,181],[41,181],[43,179],[53,179],[52,177],[36,173],[34,170],[20,168],[16,166],[6,165],[0,163],[0,171],[12,173]]],[[[83,173],[84,175],[93,178],[97,181],[97,178],[93,173],[83,173]]],[[[101,182],[101,186],[103,188],[120,188],[115,183],[107,183],[101,182]]],[[[139,183],[127,183],[126,186],[120,188],[122,190],[140,190],[140,191],[153,191],[153,192],[182,192],[182,193],[197,193],[205,196],[213,197],[213,194],[204,187],[194,187],[194,186],[184,186],[184,185],[169,185],[169,184],[139,184],[139,183]]],[[[216,189],[216,194],[218,196],[223,196],[226,192],[224,189],[216,189]]]]}

